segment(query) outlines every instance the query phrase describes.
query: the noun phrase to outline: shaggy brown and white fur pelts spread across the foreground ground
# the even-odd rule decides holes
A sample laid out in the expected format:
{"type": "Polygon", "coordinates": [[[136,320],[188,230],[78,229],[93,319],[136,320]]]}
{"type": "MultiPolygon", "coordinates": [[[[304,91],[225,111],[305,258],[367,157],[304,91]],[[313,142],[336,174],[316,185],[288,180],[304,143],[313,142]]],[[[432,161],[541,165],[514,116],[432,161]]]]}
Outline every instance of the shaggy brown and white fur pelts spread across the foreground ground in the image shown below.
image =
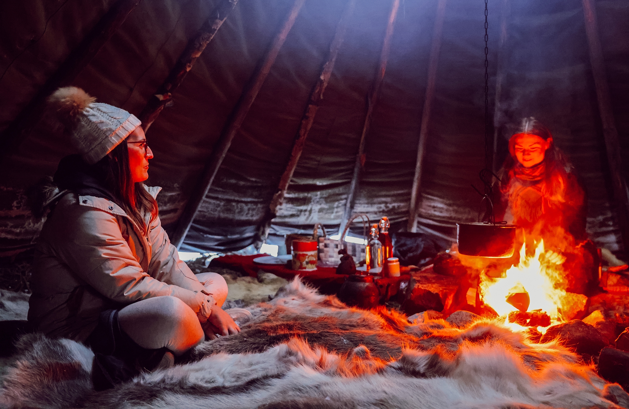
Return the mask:
{"type": "Polygon", "coordinates": [[[91,352],[29,335],[0,402],[37,408],[616,408],[629,395],[555,342],[498,322],[409,325],[348,308],[295,280],[250,308],[239,335],[205,342],[190,362],[108,391],[89,381],[91,352]]]}

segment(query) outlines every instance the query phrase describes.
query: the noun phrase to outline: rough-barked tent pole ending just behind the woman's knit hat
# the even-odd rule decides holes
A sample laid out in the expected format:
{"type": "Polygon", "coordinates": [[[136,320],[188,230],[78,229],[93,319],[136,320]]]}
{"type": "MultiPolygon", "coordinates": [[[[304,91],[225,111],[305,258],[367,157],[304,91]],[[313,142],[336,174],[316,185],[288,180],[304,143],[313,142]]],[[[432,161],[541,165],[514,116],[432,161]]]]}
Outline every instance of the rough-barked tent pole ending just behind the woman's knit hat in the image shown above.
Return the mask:
{"type": "Polygon", "coordinates": [[[172,101],[172,93],[184,81],[189,70],[192,69],[192,65],[201,56],[209,42],[212,41],[214,35],[221,28],[221,25],[225,23],[225,20],[237,3],[238,0],[222,0],[209,14],[208,20],[201,26],[197,35],[189,40],[186,49],[181,53],[172,70],[170,70],[170,74],[165,79],[164,84],[148,99],[147,105],[140,113],[140,121],[142,121],[144,132],[147,132],[166,104],[172,101]]]}

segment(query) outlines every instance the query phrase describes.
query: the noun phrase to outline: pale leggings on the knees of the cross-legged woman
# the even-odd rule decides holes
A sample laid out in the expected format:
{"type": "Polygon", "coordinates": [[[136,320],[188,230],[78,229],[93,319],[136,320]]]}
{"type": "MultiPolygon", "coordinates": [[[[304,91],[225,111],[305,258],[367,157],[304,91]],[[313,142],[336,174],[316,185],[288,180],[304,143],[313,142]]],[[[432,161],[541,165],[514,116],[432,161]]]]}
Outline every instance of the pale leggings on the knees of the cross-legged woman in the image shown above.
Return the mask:
{"type": "MultiPolygon", "coordinates": [[[[218,306],[227,298],[227,283],[215,272],[196,274],[218,306]]],[[[196,313],[184,301],[172,296],[147,298],[121,309],[120,328],[140,347],[166,347],[179,356],[205,339],[196,313]]]]}

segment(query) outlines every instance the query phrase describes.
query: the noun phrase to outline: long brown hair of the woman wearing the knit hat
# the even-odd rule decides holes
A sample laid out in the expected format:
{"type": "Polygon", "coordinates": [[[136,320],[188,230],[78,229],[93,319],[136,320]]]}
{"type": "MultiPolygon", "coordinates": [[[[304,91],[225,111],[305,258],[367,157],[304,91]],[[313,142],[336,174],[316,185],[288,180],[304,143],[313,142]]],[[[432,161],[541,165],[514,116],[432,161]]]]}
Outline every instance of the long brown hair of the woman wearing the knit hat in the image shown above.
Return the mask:
{"type": "Polygon", "coordinates": [[[144,235],[147,235],[148,226],[157,218],[157,201],[144,188],[142,182],[133,183],[126,140],[101,159],[98,165],[104,173],[107,187],[116,195],[118,204],[140,227],[144,235]],[[146,213],[150,213],[148,223],[144,218],[146,213]]]}

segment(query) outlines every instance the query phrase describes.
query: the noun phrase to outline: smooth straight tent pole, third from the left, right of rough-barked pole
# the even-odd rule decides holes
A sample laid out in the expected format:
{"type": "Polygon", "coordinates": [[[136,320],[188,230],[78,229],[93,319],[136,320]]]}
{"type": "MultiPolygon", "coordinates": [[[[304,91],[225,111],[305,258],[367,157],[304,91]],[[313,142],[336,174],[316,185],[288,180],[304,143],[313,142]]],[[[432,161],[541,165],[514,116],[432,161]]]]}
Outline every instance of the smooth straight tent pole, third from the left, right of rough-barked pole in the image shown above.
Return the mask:
{"type": "Polygon", "coordinates": [[[190,229],[194,216],[196,216],[199,211],[199,207],[201,206],[201,203],[203,203],[203,199],[206,194],[208,194],[209,187],[214,181],[214,177],[216,176],[218,169],[221,167],[223,159],[225,159],[225,155],[230,148],[231,141],[236,136],[238,130],[240,130],[240,126],[243,121],[245,121],[245,117],[247,116],[253,101],[255,101],[260,88],[262,88],[262,84],[264,84],[264,80],[267,78],[271,66],[275,62],[277,54],[279,53],[280,48],[282,48],[284,41],[286,41],[286,37],[288,36],[289,31],[291,31],[292,25],[294,25],[299,11],[305,1],[306,0],[295,0],[292,4],[291,11],[287,14],[286,20],[282,23],[281,29],[273,39],[269,50],[267,50],[262,65],[260,65],[253,73],[252,79],[230,116],[231,119],[225,126],[225,131],[221,134],[221,137],[218,139],[216,145],[214,145],[214,149],[209,157],[203,174],[194,188],[194,191],[192,191],[191,198],[188,200],[186,208],[177,222],[177,228],[172,235],[172,244],[174,244],[177,249],[179,249],[181,244],[184,242],[184,238],[190,229]]]}

